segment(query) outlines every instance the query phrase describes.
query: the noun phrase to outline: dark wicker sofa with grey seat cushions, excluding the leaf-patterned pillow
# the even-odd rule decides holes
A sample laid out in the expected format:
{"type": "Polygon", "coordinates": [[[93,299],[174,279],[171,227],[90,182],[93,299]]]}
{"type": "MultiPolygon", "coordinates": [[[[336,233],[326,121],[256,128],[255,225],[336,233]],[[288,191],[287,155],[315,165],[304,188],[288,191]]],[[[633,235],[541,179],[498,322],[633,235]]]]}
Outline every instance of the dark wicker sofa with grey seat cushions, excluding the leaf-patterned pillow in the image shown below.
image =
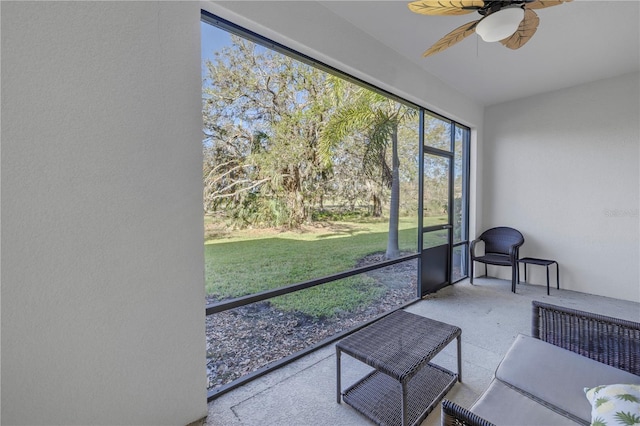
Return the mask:
{"type": "Polygon", "coordinates": [[[443,400],[443,425],[588,425],[584,388],[640,384],[640,323],[534,301],[531,335],[470,409],[443,400]]]}

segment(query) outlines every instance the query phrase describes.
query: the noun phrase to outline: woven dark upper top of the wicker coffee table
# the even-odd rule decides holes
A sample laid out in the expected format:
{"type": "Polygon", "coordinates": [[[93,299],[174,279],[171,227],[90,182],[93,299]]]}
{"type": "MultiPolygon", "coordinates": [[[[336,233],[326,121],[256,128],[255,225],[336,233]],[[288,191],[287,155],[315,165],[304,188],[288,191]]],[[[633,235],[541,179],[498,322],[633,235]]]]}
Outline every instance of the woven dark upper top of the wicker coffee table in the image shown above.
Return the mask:
{"type": "Polygon", "coordinates": [[[456,326],[396,311],[341,340],[336,348],[406,382],[460,333],[456,326]]]}

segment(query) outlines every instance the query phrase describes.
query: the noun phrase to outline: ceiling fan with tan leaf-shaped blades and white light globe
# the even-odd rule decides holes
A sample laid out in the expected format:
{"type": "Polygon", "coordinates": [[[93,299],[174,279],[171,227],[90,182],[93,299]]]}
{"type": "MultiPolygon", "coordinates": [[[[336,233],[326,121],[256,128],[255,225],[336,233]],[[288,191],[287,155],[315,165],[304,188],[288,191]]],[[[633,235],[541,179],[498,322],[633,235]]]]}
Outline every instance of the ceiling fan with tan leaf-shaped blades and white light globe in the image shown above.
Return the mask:
{"type": "Polygon", "coordinates": [[[557,6],[572,0],[418,0],[409,3],[412,12],[422,15],[465,15],[478,12],[482,18],[451,31],[427,49],[433,55],[462,41],[474,32],[484,41],[499,41],[509,49],[519,49],[535,34],[540,18],[533,9],[557,6]]]}

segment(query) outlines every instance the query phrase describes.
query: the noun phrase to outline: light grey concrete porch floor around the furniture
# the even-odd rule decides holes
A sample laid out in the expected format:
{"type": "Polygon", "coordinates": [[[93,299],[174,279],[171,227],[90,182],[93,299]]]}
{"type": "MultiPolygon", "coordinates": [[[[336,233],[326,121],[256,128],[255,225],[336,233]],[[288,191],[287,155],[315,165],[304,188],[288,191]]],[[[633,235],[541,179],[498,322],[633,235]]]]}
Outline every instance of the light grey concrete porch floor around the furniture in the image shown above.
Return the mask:
{"type": "MultiPolygon", "coordinates": [[[[462,383],[447,399],[469,407],[489,385],[498,363],[518,333],[531,333],[531,301],[586,310],[640,322],[640,304],[592,296],[567,290],[518,285],[493,278],[478,278],[446,287],[406,310],[462,329],[462,383]]],[[[553,360],[548,360],[550,363],[553,360]]],[[[455,341],[434,363],[456,371],[455,341]]],[[[359,361],[342,357],[343,389],[369,371],[359,361]]],[[[335,347],[329,345],[313,354],[265,375],[209,403],[204,425],[370,425],[366,418],[345,403],[336,403],[335,347]]],[[[437,407],[422,426],[440,424],[437,407]]]]}

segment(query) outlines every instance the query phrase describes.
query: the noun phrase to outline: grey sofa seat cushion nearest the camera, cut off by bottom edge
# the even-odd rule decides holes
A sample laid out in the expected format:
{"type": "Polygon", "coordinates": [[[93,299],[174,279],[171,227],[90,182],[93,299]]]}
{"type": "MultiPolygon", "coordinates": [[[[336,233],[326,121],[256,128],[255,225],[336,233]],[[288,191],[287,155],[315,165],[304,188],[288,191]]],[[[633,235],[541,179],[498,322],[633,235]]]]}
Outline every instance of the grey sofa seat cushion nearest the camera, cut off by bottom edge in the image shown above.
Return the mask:
{"type": "MultiPolygon", "coordinates": [[[[584,393],[582,393],[582,398],[584,398],[584,393]]],[[[495,425],[579,424],[495,379],[470,411],[495,425]]]]}

